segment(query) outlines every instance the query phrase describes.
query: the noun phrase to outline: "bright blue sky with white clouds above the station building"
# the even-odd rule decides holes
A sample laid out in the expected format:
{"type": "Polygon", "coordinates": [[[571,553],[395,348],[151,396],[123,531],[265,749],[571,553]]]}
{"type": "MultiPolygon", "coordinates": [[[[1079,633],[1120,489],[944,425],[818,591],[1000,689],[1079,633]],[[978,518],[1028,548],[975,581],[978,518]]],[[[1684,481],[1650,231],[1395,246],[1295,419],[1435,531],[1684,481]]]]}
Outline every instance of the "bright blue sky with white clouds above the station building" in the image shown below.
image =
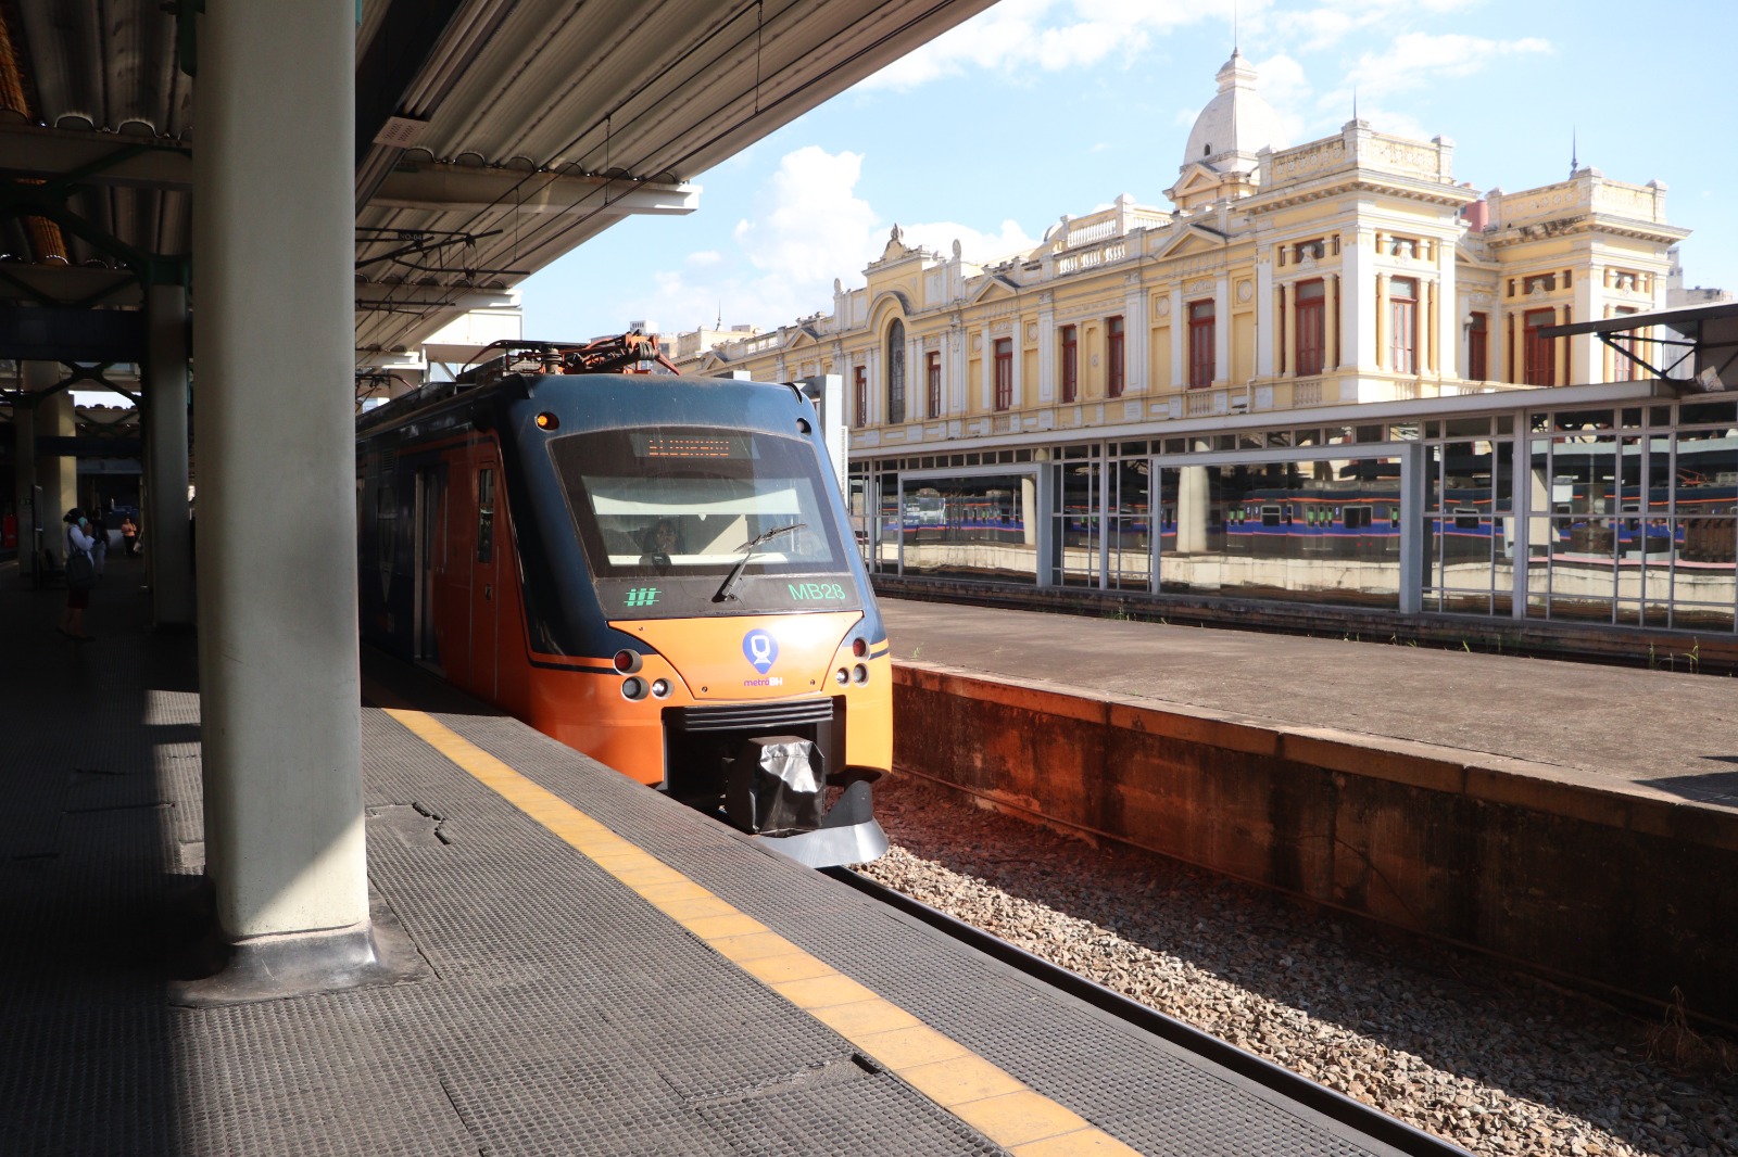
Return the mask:
{"type": "MultiPolygon", "coordinates": [[[[1455,142],[1455,179],[1528,189],[1580,163],[1668,186],[1688,285],[1738,288],[1729,0],[1239,0],[1290,144],[1357,115],[1455,142]]],[[[525,335],[763,328],[833,309],[897,222],[987,261],[1130,193],[1170,207],[1231,56],[1232,0],[1001,0],[693,177],[688,217],[627,221],[523,283],[525,335]]]]}

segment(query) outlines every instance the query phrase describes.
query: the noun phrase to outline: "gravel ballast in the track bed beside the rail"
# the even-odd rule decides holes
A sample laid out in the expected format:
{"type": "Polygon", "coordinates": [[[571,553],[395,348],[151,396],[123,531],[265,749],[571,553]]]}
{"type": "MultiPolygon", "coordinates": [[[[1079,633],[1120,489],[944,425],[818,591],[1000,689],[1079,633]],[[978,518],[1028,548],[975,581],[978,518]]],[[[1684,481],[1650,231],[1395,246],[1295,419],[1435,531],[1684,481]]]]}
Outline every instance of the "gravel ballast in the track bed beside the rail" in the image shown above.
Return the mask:
{"type": "Polygon", "coordinates": [[[1668,1015],[911,775],[876,813],[867,876],[1474,1154],[1738,1154],[1738,1048],[1668,1015]]]}

